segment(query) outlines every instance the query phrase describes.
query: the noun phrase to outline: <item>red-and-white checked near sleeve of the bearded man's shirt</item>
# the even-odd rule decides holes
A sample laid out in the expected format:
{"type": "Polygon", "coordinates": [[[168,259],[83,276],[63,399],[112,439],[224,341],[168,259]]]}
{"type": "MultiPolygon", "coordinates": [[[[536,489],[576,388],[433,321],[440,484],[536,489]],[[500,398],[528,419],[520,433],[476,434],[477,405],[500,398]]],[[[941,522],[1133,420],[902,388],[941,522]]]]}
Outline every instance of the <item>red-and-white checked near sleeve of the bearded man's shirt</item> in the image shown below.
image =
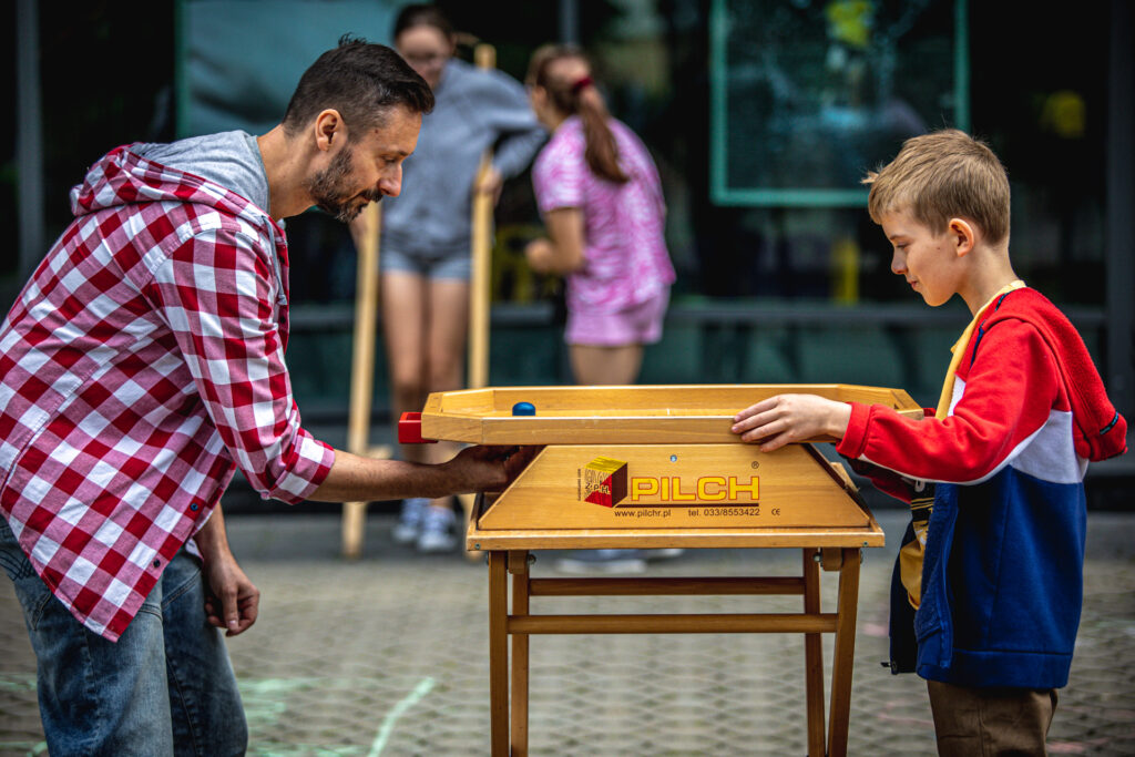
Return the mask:
{"type": "Polygon", "coordinates": [[[193,376],[186,403],[200,397],[261,496],[294,504],[327,477],[334,452],[300,424],[275,254],[269,241],[230,225],[199,230],[157,268],[151,296],[193,376]]]}

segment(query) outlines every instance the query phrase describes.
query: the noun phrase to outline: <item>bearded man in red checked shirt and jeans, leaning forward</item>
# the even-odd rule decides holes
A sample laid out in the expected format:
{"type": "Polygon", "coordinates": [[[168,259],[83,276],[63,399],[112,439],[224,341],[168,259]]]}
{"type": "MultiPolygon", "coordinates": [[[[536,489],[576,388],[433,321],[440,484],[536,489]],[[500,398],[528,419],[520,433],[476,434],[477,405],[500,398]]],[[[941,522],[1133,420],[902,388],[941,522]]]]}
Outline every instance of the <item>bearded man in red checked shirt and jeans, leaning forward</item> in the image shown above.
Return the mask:
{"type": "Polygon", "coordinates": [[[0,563],[52,755],[244,751],[213,628],[243,632],[259,602],[218,505],[236,468],[299,503],[495,489],[524,463],[353,456],[292,397],[278,221],[397,195],[432,104],[395,52],[344,37],[268,134],[119,148],[72,191],[75,221],[0,326],[0,563]]]}

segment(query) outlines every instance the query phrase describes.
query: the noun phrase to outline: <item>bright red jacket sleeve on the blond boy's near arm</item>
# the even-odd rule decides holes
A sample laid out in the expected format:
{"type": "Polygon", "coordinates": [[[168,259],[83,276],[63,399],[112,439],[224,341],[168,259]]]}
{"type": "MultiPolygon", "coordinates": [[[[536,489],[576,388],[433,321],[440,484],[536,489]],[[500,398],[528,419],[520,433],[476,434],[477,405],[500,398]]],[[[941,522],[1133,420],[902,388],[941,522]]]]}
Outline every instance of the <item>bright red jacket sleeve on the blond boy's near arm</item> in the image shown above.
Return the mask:
{"type": "Polygon", "coordinates": [[[836,451],[913,479],[977,483],[1012,460],[1058,401],[1066,404],[1044,339],[1018,320],[983,336],[965,379],[944,420],[911,420],[884,405],[851,403],[836,451]]]}

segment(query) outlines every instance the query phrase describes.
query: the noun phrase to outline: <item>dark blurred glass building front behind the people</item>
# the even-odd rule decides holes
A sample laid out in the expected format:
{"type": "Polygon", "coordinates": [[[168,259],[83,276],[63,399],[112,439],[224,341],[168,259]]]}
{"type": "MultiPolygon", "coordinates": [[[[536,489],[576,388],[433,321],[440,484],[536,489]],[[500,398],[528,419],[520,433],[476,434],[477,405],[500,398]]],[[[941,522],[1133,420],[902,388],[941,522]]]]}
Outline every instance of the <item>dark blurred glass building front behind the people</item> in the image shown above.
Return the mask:
{"type": "MultiPolygon", "coordinates": [[[[0,254],[5,308],[69,221],[67,190],[133,141],[277,123],[343,33],[389,42],[397,0],[3,3],[0,254]]],[[[942,126],[987,140],[1012,184],[1018,274],[1081,328],[1130,417],[1135,25],[1126,0],[486,0],[438,3],[523,78],[548,41],[596,59],[613,113],[662,174],[679,271],[642,381],[857,382],[938,397],[968,316],[890,274],[863,174],[942,126]]],[[[412,159],[412,158],[411,158],[412,159]]],[[[496,211],[490,382],[562,384],[558,283],[522,249],[529,177],[496,211]]],[[[354,250],[318,212],[288,221],[289,363],[310,422],[347,410],[354,250]]],[[[381,350],[379,351],[381,354],[381,350]]],[[[388,407],[385,365],[375,417],[388,407]]]]}

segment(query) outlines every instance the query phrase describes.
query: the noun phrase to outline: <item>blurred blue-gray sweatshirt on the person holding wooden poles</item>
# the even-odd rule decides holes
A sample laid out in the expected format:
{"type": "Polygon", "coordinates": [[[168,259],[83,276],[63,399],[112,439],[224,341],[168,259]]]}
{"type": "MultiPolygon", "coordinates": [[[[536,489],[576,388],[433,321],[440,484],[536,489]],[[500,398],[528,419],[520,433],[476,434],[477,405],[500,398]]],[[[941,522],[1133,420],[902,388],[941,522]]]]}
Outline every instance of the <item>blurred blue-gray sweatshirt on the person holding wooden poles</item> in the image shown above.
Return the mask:
{"type": "Polygon", "coordinates": [[[402,194],[382,199],[382,243],[442,256],[469,250],[472,186],[485,150],[496,145],[493,165],[510,178],[546,135],[524,87],[498,70],[451,59],[434,96],[418,149],[403,163],[402,194]]]}

